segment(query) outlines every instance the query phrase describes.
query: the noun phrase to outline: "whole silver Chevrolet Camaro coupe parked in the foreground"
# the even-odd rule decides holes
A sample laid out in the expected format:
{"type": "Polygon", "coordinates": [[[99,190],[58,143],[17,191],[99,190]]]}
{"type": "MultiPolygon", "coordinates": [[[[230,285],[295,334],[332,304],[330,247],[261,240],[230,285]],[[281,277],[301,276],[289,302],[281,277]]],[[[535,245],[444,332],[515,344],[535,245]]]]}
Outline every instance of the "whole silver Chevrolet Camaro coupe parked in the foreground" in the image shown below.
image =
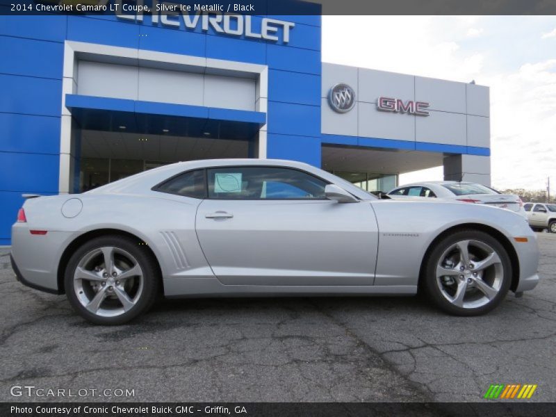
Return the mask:
{"type": "Polygon", "coordinates": [[[292,161],[175,163],[79,195],[26,196],[12,229],[23,284],[118,325],[166,297],[414,295],[486,313],[539,281],[512,211],[377,199],[292,161]]]}

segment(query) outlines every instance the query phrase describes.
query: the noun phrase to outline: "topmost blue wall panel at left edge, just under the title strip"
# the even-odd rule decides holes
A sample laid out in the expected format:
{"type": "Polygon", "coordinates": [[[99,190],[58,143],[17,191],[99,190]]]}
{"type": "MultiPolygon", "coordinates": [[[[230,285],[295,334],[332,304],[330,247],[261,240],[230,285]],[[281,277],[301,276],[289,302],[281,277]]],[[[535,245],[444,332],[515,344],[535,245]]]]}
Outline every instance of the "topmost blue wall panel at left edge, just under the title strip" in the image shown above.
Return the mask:
{"type": "Polygon", "coordinates": [[[0,35],[64,42],[67,16],[0,16],[0,35]]]}

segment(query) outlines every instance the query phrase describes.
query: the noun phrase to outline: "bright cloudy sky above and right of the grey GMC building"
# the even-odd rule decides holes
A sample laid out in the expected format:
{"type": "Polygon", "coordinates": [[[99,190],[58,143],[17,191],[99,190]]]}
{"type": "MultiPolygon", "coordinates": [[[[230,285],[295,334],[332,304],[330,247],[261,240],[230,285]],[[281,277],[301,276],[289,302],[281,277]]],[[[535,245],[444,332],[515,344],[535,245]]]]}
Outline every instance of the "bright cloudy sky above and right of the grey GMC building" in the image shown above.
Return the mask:
{"type": "Polygon", "coordinates": [[[322,60],[488,85],[493,187],[556,187],[556,17],[323,16],[322,60]]]}

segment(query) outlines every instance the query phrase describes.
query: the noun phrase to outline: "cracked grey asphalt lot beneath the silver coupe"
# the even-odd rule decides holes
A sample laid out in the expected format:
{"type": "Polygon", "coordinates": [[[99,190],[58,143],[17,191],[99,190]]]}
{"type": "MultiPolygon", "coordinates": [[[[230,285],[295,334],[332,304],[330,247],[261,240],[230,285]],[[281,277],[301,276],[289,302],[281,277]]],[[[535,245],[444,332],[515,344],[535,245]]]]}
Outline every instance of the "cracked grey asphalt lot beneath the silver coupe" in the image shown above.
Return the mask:
{"type": "Polygon", "coordinates": [[[486,316],[418,297],[166,300],[120,327],[19,284],[0,249],[0,401],[474,402],[538,384],[531,400],[554,402],[556,235],[537,236],[541,283],[486,316]]]}

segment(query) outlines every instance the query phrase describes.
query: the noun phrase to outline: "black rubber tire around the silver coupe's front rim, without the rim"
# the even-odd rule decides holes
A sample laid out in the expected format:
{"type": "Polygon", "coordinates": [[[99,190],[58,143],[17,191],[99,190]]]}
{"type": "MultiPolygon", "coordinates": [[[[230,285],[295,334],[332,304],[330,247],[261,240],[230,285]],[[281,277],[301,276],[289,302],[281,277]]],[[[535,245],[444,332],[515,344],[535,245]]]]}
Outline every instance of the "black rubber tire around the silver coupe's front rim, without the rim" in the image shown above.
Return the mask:
{"type": "Polygon", "coordinates": [[[428,254],[428,259],[425,259],[425,270],[420,284],[427,297],[436,304],[439,309],[446,313],[452,314],[453,316],[480,316],[496,308],[506,296],[509,286],[512,284],[512,262],[509,259],[505,247],[496,238],[493,238],[493,236],[483,231],[473,229],[457,231],[455,234],[445,236],[432,247],[432,250],[428,254]],[[441,256],[443,256],[444,252],[452,245],[463,240],[476,240],[489,245],[498,254],[503,268],[503,273],[501,274],[502,282],[498,294],[489,300],[487,304],[475,308],[464,308],[452,304],[444,297],[439,288],[439,284],[437,284],[436,267],[441,261],[441,256]]]}

